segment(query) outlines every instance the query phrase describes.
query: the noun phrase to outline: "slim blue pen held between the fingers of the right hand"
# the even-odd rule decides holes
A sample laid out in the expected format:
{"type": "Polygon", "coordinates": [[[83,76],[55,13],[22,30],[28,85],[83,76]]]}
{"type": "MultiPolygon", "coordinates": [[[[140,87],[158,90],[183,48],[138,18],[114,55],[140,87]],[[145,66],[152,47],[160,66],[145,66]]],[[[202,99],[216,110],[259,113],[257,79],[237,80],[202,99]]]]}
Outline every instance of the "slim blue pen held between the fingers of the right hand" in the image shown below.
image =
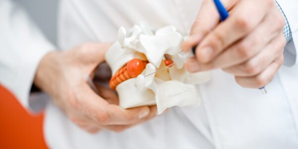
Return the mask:
{"type": "MultiPolygon", "coordinates": [[[[227,10],[224,8],[224,5],[221,2],[221,0],[214,0],[214,3],[215,3],[215,5],[216,5],[216,7],[217,7],[217,9],[219,11],[219,14],[221,16],[221,20],[224,21],[228,17],[227,10]]],[[[195,52],[196,52],[196,47],[197,46],[195,46],[195,47],[192,48],[193,54],[195,54],[195,52]]],[[[263,94],[266,94],[267,93],[267,90],[266,90],[265,86],[263,86],[263,87],[261,87],[259,89],[262,91],[263,94]]]]}

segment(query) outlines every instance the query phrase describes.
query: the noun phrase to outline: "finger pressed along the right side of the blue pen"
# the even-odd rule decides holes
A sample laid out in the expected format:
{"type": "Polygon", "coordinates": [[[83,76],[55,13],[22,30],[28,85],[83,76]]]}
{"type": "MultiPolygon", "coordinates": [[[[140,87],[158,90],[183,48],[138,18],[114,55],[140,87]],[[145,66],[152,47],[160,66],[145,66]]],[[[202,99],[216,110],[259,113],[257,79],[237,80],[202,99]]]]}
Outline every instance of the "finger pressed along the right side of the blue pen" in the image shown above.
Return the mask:
{"type": "Polygon", "coordinates": [[[201,63],[211,62],[225,48],[250,33],[267,14],[273,0],[241,0],[234,13],[209,33],[196,49],[196,58],[201,63]],[[270,5],[269,5],[270,4],[270,5]],[[254,10],[249,9],[253,7],[254,10]],[[254,17],[249,17],[254,16],[254,17]]]}

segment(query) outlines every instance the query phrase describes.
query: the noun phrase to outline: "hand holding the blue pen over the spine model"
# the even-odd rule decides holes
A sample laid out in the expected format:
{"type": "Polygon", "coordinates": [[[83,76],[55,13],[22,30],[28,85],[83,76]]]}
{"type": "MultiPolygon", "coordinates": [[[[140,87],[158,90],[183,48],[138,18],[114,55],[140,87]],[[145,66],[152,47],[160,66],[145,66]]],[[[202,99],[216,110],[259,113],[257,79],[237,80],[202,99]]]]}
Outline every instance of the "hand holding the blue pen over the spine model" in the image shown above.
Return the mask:
{"type": "Polygon", "coordinates": [[[243,87],[269,83],[283,64],[285,19],[274,0],[222,0],[229,17],[220,23],[213,0],[204,0],[183,50],[199,44],[190,72],[221,68],[243,87]]]}

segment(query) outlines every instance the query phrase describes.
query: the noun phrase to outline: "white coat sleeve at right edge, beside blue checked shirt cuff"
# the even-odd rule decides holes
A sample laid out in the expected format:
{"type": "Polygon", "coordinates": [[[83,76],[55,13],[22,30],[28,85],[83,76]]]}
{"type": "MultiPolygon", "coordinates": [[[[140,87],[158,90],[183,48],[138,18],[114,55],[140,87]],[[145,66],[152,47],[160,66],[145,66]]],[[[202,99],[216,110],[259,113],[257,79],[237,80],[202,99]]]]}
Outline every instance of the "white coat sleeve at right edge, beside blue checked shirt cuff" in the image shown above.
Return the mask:
{"type": "Polygon", "coordinates": [[[298,0],[276,0],[281,6],[292,32],[292,40],[286,45],[284,56],[286,66],[296,65],[298,49],[298,0]]]}

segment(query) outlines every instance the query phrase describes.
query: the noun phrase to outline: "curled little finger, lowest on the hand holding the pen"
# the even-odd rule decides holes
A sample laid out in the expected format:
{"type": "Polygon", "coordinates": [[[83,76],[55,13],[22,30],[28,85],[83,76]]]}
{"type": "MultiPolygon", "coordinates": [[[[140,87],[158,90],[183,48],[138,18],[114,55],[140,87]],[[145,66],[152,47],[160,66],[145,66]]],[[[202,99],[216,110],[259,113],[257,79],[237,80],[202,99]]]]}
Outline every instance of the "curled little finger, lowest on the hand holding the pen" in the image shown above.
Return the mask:
{"type": "Polygon", "coordinates": [[[254,76],[266,69],[277,57],[283,54],[286,40],[281,33],[273,39],[264,50],[245,63],[223,69],[235,76],[254,76]]]}

